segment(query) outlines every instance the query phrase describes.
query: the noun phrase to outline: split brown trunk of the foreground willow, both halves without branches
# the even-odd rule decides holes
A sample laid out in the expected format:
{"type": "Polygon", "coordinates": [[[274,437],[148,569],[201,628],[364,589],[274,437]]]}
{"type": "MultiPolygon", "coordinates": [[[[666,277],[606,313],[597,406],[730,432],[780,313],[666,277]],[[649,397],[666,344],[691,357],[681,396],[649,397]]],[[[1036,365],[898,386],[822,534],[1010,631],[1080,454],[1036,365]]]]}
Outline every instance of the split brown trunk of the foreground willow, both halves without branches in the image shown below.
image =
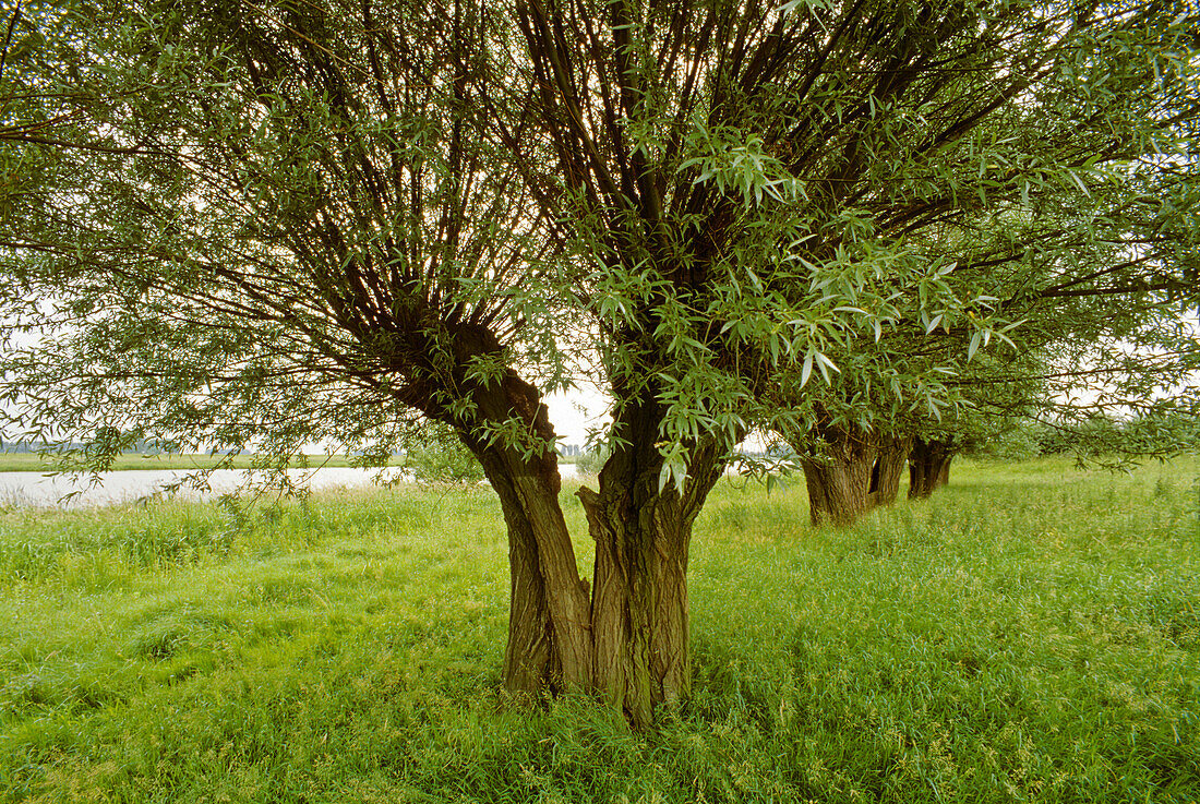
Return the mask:
{"type": "MultiPolygon", "coordinates": [[[[510,376],[476,400],[482,414],[520,415],[553,443],[533,386],[510,376]]],[[[646,728],[656,707],[690,690],[688,551],[724,462],[714,446],[696,448],[683,490],[660,488],[660,420],[656,408],[626,410],[620,424],[628,445],[605,463],[599,492],[578,491],[596,545],[590,588],[578,576],[558,502],[554,454],[529,455],[460,432],[500,499],[509,532],[510,692],[599,691],[634,727],[646,728]]]]}

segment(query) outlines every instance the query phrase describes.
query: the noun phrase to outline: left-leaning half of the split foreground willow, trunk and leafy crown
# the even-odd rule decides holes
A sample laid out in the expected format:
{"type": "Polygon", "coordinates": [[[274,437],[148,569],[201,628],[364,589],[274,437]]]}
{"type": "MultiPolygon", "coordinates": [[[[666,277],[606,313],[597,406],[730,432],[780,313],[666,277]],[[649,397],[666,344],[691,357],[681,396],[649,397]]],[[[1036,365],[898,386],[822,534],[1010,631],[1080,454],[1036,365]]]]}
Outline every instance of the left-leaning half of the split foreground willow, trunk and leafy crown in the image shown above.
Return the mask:
{"type": "Polygon", "coordinates": [[[137,439],[266,464],[306,443],[390,455],[414,414],[452,428],[509,523],[505,685],[535,692],[587,685],[593,654],[540,402],[576,302],[478,113],[517,47],[505,20],[24,4],[4,371],[16,424],[85,439],[88,468],[137,439]]]}

